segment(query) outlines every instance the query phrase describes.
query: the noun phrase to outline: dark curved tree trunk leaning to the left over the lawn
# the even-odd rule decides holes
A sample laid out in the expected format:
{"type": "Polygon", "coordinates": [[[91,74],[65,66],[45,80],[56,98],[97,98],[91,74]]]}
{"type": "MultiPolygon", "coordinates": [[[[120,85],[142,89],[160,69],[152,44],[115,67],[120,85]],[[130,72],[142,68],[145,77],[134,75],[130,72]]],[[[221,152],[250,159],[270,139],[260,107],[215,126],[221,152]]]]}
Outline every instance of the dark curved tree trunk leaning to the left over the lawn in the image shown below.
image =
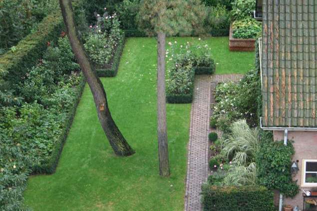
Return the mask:
{"type": "Polygon", "coordinates": [[[90,65],[89,59],[83,50],[77,36],[77,30],[73,17],[71,0],[59,0],[61,12],[66,26],[67,36],[79,66],[92,92],[101,126],[116,155],[129,156],[134,153],[119,128],[115,124],[107,103],[107,97],[100,79],[90,65]]]}

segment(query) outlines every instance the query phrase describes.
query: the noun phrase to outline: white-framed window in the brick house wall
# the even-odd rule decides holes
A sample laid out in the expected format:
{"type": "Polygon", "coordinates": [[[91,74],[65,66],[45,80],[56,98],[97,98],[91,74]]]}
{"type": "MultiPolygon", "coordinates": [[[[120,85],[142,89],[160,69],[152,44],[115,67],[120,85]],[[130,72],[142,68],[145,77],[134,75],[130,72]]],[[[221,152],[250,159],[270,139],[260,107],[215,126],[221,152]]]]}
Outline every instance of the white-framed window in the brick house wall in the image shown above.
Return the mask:
{"type": "Polygon", "coordinates": [[[304,160],[303,185],[317,186],[317,160],[304,160]]]}

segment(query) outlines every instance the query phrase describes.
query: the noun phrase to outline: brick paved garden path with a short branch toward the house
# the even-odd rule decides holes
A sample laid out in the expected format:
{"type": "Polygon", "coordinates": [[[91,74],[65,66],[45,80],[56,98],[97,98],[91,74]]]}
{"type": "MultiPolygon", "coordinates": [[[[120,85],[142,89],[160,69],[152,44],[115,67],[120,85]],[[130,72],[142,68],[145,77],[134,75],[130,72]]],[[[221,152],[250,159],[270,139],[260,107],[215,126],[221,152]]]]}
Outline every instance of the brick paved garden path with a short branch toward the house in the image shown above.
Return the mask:
{"type": "Polygon", "coordinates": [[[189,129],[185,211],[201,211],[201,184],[208,177],[208,133],[211,89],[219,82],[238,81],[242,75],[195,76],[194,99],[189,129]]]}

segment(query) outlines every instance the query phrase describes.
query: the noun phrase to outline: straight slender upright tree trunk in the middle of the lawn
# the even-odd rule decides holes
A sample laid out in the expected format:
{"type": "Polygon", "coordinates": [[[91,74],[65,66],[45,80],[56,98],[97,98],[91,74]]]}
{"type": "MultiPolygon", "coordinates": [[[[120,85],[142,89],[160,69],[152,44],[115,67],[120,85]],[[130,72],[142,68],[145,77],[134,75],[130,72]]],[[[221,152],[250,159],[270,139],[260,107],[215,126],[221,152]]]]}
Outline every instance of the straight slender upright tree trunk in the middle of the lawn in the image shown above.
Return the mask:
{"type": "Polygon", "coordinates": [[[160,175],[169,176],[166,97],[165,97],[165,33],[157,34],[157,133],[160,175]]]}

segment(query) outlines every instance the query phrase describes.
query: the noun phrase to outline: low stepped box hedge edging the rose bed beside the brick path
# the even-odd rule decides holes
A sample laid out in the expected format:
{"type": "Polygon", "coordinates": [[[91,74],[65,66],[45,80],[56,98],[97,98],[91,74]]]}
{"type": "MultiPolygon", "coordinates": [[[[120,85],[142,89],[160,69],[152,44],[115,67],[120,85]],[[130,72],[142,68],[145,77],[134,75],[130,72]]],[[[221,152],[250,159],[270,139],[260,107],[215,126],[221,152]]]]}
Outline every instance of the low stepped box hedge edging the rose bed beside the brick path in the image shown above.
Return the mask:
{"type": "MultiPolygon", "coordinates": [[[[213,61],[213,60],[212,60],[213,61]]],[[[195,74],[213,74],[216,70],[216,66],[214,61],[210,67],[194,67],[192,70],[191,80],[192,85],[190,87],[189,94],[173,94],[166,92],[166,101],[169,104],[189,104],[193,101],[193,93],[194,93],[194,78],[195,74]]]]}

